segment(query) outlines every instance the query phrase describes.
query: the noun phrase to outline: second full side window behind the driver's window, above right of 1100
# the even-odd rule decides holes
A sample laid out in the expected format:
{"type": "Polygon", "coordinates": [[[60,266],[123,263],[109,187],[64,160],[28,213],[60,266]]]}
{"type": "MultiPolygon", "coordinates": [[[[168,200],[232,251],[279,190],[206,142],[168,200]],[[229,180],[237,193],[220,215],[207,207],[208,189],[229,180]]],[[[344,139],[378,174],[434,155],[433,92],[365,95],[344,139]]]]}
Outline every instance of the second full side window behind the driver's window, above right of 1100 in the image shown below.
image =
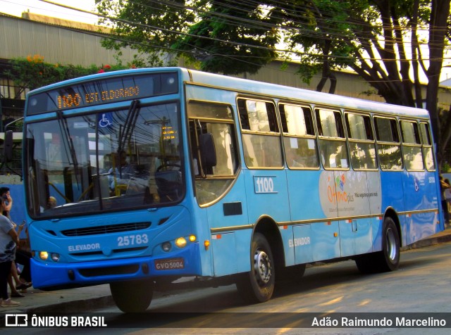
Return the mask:
{"type": "Polygon", "coordinates": [[[317,169],[319,159],[311,109],[281,103],[279,110],[288,167],[317,169]]]}

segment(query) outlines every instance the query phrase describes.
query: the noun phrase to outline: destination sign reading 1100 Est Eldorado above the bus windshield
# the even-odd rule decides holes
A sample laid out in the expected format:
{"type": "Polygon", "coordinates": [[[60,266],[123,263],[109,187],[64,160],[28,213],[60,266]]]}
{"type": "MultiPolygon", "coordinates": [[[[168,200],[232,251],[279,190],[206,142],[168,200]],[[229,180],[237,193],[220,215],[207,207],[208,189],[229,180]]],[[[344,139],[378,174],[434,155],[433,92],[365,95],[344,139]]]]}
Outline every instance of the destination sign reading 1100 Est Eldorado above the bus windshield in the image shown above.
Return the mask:
{"type": "Polygon", "coordinates": [[[30,94],[27,115],[178,93],[176,72],[89,80],[30,94]]]}

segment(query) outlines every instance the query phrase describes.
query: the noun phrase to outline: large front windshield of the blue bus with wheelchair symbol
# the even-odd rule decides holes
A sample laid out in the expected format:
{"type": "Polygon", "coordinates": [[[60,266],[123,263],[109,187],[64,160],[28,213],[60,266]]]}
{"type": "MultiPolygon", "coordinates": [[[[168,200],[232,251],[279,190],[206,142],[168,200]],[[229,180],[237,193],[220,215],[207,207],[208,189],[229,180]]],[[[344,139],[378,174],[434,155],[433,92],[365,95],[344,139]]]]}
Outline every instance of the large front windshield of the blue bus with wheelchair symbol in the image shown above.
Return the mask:
{"type": "Polygon", "coordinates": [[[57,117],[26,128],[32,217],[48,218],[181,200],[178,103],[57,117]]]}

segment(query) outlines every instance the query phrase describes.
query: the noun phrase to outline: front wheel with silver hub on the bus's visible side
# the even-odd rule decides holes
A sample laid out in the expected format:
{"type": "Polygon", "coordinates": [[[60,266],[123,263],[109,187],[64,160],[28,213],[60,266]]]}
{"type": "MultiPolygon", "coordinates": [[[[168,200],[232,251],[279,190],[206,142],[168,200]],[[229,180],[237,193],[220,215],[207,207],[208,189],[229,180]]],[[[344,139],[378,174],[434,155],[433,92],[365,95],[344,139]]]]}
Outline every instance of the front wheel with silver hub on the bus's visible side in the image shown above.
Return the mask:
{"type": "Polygon", "coordinates": [[[275,272],[271,247],[263,234],[252,238],[251,271],[237,280],[237,289],[247,303],[264,303],[271,299],[274,291],[275,272]]]}

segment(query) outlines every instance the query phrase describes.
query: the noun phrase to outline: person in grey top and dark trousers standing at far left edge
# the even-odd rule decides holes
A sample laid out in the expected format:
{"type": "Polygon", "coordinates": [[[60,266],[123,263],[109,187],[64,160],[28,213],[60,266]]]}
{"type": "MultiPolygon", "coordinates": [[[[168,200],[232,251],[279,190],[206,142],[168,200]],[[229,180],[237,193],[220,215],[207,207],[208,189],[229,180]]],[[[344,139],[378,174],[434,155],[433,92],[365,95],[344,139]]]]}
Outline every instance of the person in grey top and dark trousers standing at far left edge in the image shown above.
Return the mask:
{"type": "MultiPolygon", "coordinates": [[[[0,198],[1,213],[5,210],[6,203],[0,198]]],[[[8,296],[8,276],[11,274],[11,265],[16,258],[16,245],[19,236],[14,225],[8,217],[0,215],[0,298],[1,307],[16,307],[20,303],[12,301],[8,296]]]]}

